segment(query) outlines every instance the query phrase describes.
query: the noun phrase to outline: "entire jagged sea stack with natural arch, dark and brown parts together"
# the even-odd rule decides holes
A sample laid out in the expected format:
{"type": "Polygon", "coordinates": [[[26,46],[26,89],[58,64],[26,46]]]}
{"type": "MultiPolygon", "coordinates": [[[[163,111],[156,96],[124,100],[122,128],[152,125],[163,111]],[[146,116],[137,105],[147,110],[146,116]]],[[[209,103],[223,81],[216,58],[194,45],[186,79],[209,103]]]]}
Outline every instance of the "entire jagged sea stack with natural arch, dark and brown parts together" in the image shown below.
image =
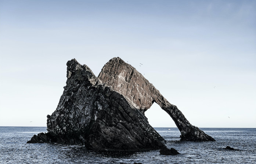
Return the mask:
{"type": "Polygon", "coordinates": [[[94,150],[165,149],[165,140],[144,112],[156,102],[176,123],[181,140],[215,141],[192,126],[135,68],[113,58],[98,77],[75,59],[67,63],[67,81],[57,109],[47,115],[48,133],[27,143],[80,144],[94,150]]]}

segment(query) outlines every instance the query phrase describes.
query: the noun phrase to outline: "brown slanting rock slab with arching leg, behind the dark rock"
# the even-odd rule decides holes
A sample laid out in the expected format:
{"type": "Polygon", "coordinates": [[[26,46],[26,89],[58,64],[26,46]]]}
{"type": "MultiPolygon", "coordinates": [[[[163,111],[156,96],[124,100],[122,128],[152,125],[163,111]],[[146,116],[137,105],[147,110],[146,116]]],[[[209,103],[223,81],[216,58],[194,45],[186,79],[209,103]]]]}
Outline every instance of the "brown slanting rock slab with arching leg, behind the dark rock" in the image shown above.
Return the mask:
{"type": "Polygon", "coordinates": [[[174,120],[185,141],[215,141],[198,127],[192,126],[181,111],[170,104],[160,92],[134,67],[119,57],[114,57],[102,68],[98,78],[141,112],[147,111],[156,102],[174,120]]]}

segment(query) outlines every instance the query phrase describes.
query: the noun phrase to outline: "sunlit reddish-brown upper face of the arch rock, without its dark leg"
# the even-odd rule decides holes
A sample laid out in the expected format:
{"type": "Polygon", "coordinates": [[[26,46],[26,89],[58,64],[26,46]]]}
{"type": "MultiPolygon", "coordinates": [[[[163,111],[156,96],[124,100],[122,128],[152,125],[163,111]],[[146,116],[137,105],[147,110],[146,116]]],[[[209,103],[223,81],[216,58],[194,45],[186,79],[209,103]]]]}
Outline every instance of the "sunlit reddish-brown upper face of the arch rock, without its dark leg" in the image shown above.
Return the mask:
{"type": "MultiPolygon", "coordinates": [[[[120,57],[110,59],[102,68],[98,78],[122,94],[129,103],[143,113],[154,103],[151,95],[142,88],[142,86],[150,87],[152,84],[120,57]]],[[[155,89],[155,92],[159,91],[155,89]]]]}

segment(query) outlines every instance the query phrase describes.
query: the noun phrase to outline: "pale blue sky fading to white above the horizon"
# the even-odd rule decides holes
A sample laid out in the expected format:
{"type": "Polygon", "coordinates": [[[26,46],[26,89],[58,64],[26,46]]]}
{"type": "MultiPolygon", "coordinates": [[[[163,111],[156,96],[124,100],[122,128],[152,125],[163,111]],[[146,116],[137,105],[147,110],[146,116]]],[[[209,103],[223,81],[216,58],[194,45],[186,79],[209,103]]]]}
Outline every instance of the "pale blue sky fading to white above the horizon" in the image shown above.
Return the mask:
{"type": "MultiPolygon", "coordinates": [[[[194,126],[256,128],[254,0],[0,0],[0,126],[45,127],[66,62],[97,76],[113,57],[194,126]]],[[[145,115],[176,127],[155,103],[145,115]]]]}

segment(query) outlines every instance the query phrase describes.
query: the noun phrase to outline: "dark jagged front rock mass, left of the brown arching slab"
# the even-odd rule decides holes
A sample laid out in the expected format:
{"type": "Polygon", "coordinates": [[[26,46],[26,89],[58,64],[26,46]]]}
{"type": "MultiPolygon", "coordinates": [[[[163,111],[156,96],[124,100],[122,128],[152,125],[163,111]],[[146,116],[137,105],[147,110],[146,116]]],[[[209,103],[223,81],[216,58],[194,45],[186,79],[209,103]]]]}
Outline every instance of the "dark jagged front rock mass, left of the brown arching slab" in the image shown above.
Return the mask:
{"type": "Polygon", "coordinates": [[[94,150],[156,150],[165,140],[118,92],[104,86],[86,65],[67,63],[67,81],[46,134],[28,143],[82,144],[94,150]],[[43,138],[41,139],[40,137],[43,138]]]}

